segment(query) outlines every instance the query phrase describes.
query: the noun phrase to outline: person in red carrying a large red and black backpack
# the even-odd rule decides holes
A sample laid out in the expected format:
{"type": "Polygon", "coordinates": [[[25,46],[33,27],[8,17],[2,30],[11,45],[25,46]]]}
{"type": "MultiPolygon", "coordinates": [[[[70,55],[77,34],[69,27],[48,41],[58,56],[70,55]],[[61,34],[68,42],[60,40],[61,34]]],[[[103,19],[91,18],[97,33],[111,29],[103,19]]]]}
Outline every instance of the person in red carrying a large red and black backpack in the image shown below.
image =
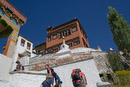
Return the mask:
{"type": "Polygon", "coordinates": [[[74,87],[86,87],[87,80],[84,73],[81,72],[80,69],[73,69],[71,77],[74,87]]]}

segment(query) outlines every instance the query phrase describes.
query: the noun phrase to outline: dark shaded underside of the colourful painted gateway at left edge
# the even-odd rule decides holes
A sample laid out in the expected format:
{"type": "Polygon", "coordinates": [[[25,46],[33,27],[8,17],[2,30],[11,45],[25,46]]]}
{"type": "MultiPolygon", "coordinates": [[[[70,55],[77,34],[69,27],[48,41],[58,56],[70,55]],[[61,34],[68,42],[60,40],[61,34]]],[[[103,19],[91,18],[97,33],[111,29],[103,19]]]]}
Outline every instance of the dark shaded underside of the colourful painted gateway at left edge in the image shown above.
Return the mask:
{"type": "Polygon", "coordinates": [[[8,25],[0,16],[0,39],[8,37],[13,31],[12,27],[8,25]]]}

